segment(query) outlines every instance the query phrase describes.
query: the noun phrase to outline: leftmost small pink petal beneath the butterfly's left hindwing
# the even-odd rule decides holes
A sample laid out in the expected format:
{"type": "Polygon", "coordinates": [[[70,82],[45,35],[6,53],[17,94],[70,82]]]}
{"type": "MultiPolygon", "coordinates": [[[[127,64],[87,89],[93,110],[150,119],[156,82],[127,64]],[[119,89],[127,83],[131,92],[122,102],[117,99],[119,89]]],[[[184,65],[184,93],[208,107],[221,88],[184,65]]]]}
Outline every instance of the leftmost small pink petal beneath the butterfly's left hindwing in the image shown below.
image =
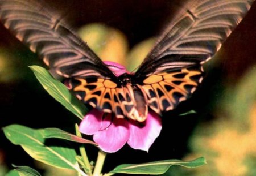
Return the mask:
{"type": "Polygon", "coordinates": [[[89,113],[85,115],[84,119],[80,123],[79,131],[82,134],[93,135],[96,132],[107,128],[111,122],[108,121],[108,123],[103,123],[103,115],[103,112],[93,108],[91,111],[89,111],[89,113]]]}

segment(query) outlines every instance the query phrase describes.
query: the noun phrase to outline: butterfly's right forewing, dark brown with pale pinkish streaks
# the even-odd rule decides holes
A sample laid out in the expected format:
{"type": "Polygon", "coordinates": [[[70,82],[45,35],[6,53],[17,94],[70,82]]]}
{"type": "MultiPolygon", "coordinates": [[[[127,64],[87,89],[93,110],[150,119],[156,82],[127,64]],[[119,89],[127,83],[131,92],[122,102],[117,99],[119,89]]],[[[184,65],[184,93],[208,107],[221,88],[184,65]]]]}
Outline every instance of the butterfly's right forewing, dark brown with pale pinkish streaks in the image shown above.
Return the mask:
{"type": "Polygon", "coordinates": [[[208,61],[245,16],[253,0],[188,1],[144,59],[137,77],[208,61]]]}

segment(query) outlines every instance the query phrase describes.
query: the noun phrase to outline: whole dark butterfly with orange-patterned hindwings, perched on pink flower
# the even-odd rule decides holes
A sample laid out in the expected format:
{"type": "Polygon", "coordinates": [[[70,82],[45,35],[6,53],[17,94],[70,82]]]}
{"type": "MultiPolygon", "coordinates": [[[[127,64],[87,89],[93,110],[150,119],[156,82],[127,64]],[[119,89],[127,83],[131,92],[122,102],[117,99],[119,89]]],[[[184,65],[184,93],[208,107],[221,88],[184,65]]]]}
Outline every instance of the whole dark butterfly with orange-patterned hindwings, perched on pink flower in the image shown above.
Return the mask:
{"type": "Polygon", "coordinates": [[[35,0],[0,0],[0,20],[85,104],[143,122],[187,100],[203,63],[220,49],[253,0],[187,1],[132,74],[116,76],[63,19],[35,0]]]}

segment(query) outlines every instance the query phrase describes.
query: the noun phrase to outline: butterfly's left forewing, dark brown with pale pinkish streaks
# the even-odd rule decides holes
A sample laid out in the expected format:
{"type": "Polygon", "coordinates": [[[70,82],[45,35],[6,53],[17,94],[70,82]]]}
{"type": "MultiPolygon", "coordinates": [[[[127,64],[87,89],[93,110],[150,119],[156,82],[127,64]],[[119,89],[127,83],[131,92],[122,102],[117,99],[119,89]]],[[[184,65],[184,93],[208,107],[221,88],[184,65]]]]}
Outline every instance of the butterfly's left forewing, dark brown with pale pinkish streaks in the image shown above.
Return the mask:
{"type": "Polygon", "coordinates": [[[0,0],[0,19],[57,74],[66,78],[88,75],[115,78],[63,19],[41,1],[0,0]]]}

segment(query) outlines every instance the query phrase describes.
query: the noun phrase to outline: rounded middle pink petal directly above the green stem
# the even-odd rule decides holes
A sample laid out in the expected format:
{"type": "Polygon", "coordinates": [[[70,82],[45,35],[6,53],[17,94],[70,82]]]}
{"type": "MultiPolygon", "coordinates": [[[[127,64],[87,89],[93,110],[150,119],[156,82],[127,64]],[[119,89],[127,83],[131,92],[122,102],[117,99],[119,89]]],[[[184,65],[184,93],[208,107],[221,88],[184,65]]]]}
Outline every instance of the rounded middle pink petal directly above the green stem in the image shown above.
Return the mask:
{"type": "Polygon", "coordinates": [[[104,152],[116,152],[126,144],[129,139],[129,125],[126,119],[112,118],[111,114],[107,115],[104,121],[112,123],[93,135],[93,140],[99,145],[104,152]]]}

